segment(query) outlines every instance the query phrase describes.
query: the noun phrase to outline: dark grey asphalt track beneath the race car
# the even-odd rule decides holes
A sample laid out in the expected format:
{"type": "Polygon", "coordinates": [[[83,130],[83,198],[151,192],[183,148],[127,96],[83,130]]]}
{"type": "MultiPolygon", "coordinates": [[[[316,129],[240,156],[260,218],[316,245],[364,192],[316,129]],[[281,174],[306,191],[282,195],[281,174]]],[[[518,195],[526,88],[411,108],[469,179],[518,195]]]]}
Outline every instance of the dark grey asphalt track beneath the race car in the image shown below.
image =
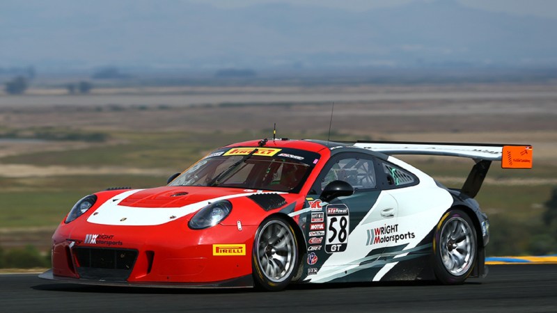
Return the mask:
{"type": "Polygon", "coordinates": [[[0,275],[0,312],[557,312],[557,264],[489,266],[483,280],[253,289],[97,287],[0,275]]]}

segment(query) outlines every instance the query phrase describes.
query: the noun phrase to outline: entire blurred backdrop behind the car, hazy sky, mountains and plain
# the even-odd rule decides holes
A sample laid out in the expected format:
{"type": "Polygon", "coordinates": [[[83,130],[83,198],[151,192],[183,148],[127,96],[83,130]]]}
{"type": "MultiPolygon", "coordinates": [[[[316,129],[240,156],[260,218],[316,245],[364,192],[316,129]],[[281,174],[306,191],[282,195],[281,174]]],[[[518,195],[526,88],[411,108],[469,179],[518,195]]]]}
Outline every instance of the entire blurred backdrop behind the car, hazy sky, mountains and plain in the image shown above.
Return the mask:
{"type": "MultiPolygon", "coordinates": [[[[525,143],[487,254],[557,253],[557,2],[0,1],[0,268],[49,266],[84,195],[237,141],[525,143]]],[[[462,186],[472,161],[408,157],[462,186]]]]}

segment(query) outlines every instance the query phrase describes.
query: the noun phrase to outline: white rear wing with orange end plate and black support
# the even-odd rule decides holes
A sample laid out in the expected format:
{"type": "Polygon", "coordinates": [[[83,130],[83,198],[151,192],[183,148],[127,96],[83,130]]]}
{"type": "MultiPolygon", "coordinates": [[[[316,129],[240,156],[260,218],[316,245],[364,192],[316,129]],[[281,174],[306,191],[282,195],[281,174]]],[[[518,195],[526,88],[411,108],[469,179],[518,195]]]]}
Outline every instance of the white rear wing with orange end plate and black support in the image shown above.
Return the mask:
{"type": "Polygon", "coordinates": [[[486,143],[419,143],[402,141],[356,141],[361,147],[384,154],[439,155],[464,157],[476,161],[461,193],[476,197],[492,161],[501,161],[501,168],[532,168],[531,145],[502,145],[486,143]]]}

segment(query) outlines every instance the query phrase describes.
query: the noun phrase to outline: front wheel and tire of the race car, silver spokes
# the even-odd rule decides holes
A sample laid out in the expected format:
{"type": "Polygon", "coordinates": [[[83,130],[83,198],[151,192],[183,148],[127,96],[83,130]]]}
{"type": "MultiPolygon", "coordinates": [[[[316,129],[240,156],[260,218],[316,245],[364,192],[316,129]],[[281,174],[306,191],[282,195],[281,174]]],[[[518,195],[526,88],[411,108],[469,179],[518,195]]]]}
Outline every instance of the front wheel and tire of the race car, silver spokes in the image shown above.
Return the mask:
{"type": "Polygon", "coordinates": [[[256,289],[280,291],[288,286],[298,268],[299,250],[294,229],[285,218],[271,216],[261,223],[252,261],[256,289]]]}

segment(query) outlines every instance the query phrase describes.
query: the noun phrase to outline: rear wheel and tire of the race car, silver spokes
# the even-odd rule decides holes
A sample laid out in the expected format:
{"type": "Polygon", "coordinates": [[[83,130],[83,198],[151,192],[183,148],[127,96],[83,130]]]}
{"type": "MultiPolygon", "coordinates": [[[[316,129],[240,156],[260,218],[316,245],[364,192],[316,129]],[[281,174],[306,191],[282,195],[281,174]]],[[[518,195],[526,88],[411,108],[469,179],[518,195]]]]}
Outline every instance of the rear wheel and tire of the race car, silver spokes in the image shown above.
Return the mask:
{"type": "Polygon", "coordinates": [[[433,240],[435,277],[441,284],[462,284],[478,257],[472,220],[464,211],[451,209],[439,220],[433,240]]]}

